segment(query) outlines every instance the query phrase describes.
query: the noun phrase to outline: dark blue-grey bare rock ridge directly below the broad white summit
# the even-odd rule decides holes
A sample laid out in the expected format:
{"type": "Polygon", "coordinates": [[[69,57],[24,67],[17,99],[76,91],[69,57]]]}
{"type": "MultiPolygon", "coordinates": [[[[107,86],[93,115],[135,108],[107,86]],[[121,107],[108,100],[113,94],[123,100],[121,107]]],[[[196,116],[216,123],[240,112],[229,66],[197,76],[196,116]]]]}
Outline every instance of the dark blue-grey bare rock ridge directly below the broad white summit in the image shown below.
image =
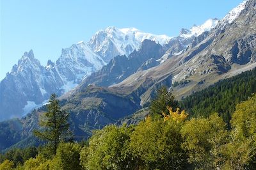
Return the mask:
{"type": "Polygon", "coordinates": [[[83,81],[83,87],[88,86],[88,84],[108,87],[121,82],[136,72],[140,66],[146,66],[149,59],[156,61],[163,54],[164,49],[161,45],[151,40],[144,40],[138,51],[134,50],[128,57],[116,56],[111,59],[108,65],[103,66],[99,72],[86,77],[83,81]]]}

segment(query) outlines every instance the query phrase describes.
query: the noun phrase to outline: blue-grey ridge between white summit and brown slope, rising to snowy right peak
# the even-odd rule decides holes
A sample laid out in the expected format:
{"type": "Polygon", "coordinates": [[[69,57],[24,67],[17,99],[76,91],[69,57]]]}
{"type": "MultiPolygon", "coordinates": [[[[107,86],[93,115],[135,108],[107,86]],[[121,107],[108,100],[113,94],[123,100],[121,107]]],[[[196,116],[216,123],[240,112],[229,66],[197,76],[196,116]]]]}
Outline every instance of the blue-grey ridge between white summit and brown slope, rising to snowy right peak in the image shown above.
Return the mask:
{"type": "MultiPolygon", "coordinates": [[[[208,34],[207,31],[216,26],[216,23],[218,23],[217,19],[210,19],[202,24],[202,26],[192,27],[191,30],[195,32],[193,32],[193,35],[192,33],[186,35],[187,32],[184,33],[181,31],[179,36],[170,38],[167,43],[163,44],[163,47],[161,47],[161,43],[157,45],[156,43],[150,43],[150,41],[144,40],[141,47],[138,50],[134,50],[129,56],[116,56],[109,61],[108,65],[103,66],[98,72],[92,73],[92,75],[86,77],[82,83],[83,87],[86,87],[88,84],[108,87],[123,81],[129,75],[137,71],[148,70],[149,68],[163,63],[172,56],[182,54],[189,46],[193,47],[204,40],[208,34]],[[209,22],[212,24],[209,24],[209,22]]],[[[113,29],[116,31],[114,27],[111,29],[111,33],[113,29]]],[[[119,31],[122,30],[124,29],[119,31]]],[[[132,31],[134,31],[134,29],[132,29],[132,31]]],[[[131,33],[128,35],[130,34],[131,33]]],[[[133,35],[135,38],[136,34],[138,33],[135,29],[135,34],[133,35]]],[[[141,35],[141,33],[139,35],[141,35]]],[[[157,40],[157,37],[155,39],[157,40]]],[[[125,54],[125,52],[123,53],[125,54]]]]}

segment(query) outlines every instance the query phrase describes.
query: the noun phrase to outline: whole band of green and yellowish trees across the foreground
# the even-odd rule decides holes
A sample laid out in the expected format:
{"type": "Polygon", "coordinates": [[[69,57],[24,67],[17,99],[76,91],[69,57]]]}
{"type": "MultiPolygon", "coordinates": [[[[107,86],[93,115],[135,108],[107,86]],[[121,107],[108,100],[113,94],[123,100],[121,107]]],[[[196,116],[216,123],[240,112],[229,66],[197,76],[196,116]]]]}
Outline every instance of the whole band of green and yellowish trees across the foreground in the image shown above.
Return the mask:
{"type": "MultiPolygon", "coordinates": [[[[163,117],[148,116],[136,126],[108,125],[81,143],[60,139],[56,153],[52,141],[13,148],[0,155],[0,169],[256,169],[256,95],[237,104],[227,130],[217,113],[186,120],[185,111],[167,107],[164,112],[170,105],[163,102],[168,91],[162,92],[154,108],[163,117]]],[[[58,101],[52,107],[58,110],[58,101]]],[[[51,134],[40,133],[45,132],[51,134]]]]}

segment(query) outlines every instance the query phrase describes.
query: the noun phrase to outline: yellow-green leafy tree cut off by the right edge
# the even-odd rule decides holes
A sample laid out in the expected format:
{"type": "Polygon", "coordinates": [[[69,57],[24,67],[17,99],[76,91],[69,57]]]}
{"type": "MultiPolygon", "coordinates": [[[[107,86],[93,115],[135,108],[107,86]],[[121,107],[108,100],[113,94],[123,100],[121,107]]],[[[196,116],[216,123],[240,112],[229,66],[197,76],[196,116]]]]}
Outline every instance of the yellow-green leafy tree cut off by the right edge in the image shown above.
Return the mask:
{"type": "Polygon", "coordinates": [[[256,95],[237,104],[231,120],[231,141],[223,153],[227,169],[256,169],[256,95]]]}

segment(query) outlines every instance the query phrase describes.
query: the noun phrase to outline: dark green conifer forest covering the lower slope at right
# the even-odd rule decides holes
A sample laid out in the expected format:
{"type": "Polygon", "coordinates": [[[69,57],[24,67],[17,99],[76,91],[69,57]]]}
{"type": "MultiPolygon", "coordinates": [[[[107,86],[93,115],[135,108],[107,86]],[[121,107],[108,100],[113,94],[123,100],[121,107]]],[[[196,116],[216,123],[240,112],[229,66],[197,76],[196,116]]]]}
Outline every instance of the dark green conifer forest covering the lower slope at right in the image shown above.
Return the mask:
{"type": "MultiPolygon", "coordinates": [[[[256,92],[256,69],[241,73],[229,79],[217,82],[209,88],[184,98],[180,105],[190,116],[209,116],[218,112],[229,123],[236,104],[247,100],[256,92]]],[[[230,128],[230,125],[228,124],[230,128]]]]}

